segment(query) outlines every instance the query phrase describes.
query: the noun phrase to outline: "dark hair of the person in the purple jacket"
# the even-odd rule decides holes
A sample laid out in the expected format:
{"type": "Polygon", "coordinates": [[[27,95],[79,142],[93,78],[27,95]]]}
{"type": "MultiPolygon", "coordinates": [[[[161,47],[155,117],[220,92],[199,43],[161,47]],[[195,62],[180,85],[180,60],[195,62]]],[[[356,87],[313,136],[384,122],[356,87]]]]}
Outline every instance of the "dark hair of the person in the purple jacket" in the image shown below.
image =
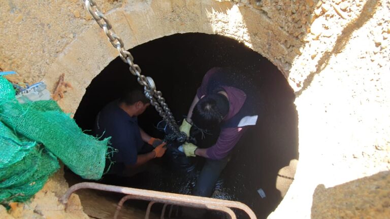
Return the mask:
{"type": "Polygon", "coordinates": [[[229,100],[222,94],[204,96],[195,105],[191,120],[200,129],[212,129],[219,125],[229,112],[229,100]]]}

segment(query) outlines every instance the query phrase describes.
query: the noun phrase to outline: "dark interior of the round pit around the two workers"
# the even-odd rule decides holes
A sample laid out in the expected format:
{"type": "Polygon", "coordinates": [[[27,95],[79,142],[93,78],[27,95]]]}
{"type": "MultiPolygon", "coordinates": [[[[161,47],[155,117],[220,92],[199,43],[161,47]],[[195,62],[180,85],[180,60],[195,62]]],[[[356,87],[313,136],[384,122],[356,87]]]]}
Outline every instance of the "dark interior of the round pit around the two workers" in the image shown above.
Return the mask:
{"type": "MultiPolygon", "coordinates": [[[[262,101],[262,113],[258,124],[234,148],[232,159],[222,172],[213,197],[241,201],[250,206],[258,218],[266,218],[278,206],[293,181],[295,167],[290,167],[290,171],[280,170],[291,160],[298,159],[295,95],[276,66],[242,43],[203,33],[174,34],[129,51],[135,57],[135,63],[140,65],[142,74],[152,77],[157,90],[163,92],[177,121],[186,115],[208,69],[232,66],[247,72],[243,77],[257,85],[256,95],[262,101]],[[257,192],[259,189],[265,192],[266,198],[261,198],[257,192]]],[[[74,116],[76,122],[83,130],[91,130],[100,109],[117,98],[124,88],[134,86],[140,87],[128,71],[127,64],[116,58],[86,89],[74,116]]],[[[161,118],[153,107],[139,117],[139,125],[146,132],[163,137],[163,133],[155,128],[159,121],[161,118]]],[[[201,158],[199,160],[202,162],[201,158]]],[[[160,165],[157,169],[150,168],[131,180],[115,183],[190,194],[197,174],[176,174],[170,171],[166,162],[157,164],[160,165]]],[[[70,172],[66,173],[66,177],[70,184],[80,180],[70,172]]],[[[81,201],[83,203],[83,196],[81,201]]],[[[134,206],[145,207],[143,204],[134,206]]],[[[241,215],[241,218],[245,216],[241,215]]]]}

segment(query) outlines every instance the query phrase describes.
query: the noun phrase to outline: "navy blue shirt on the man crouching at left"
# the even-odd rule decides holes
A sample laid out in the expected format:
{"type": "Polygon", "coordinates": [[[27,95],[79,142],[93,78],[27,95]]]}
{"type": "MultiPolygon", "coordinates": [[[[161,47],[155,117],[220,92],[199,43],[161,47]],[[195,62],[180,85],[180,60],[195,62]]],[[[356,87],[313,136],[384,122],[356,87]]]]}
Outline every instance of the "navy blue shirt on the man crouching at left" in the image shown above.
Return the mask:
{"type": "Polygon", "coordinates": [[[144,144],[137,117],[131,117],[118,105],[118,100],[107,104],[96,117],[95,136],[111,137],[111,147],[118,150],[113,155],[110,173],[121,173],[124,165],[137,163],[137,155],[144,144]]]}

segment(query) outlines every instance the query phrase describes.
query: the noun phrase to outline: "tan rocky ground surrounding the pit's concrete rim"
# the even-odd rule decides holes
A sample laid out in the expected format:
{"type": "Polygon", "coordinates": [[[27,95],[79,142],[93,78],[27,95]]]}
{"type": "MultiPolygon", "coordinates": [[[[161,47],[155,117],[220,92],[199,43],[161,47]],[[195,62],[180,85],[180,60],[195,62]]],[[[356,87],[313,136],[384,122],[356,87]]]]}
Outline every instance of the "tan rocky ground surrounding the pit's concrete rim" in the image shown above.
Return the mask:
{"type": "MultiPolygon", "coordinates": [[[[139,1],[96,2],[108,11],[139,1]]],[[[172,14],[176,9],[181,8],[185,13],[183,7],[192,7],[190,3],[183,6],[182,2],[171,2],[177,6],[172,7],[172,14]]],[[[218,2],[222,2],[219,9],[231,7],[226,1],[218,2]]],[[[297,173],[270,218],[388,217],[390,3],[385,0],[234,2],[239,7],[236,12],[241,10],[246,22],[246,26],[240,28],[248,28],[253,34],[230,34],[229,29],[237,29],[234,22],[230,22],[234,19],[229,21],[228,13],[220,13],[225,17],[218,17],[217,12],[213,22],[220,25],[213,26],[212,31],[232,36],[247,45],[252,43],[251,48],[264,53],[279,67],[297,97],[300,133],[297,173]],[[264,22],[264,26],[256,23],[251,17],[254,11],[269,23],[264,22]],[[262,32],[253,26],[273,26],[273,29],[262,32]]],[[[154,12],[157,16],[157,9],[154,8],[154,12]]],[[[80,1],[49,1],[48,4],[4,1],[0,14],[7,15],[2,16],[0,23],[0,69],[18,71],[19,75],[10,77],[14,82],[41,81],[51,64],[67,54],[64,48],[77,41],[91,25],[80,1]]],[[[188,15],[187,18],[183,26],[189,25],[191,19],[197,22],[196,17],[188,15]]],[[[176,26],[179,24],[169,28],[176,26]]],[[[191,28],[188,31],[196,29],[191,28]]],[[[64,101],[70,102],[67,98],[72,99],[72,96],[64,97],[64,101]]],[[[76,103],[72,104],[77,108],[76,103]]],[[[77,204],[77,196],[73,198],[73,209],[64,210],[58,204],[55,191],[63,191],[67,185],[56,185],[57,189],[53,189],[51,181],[31,203],[14,205],[9,212],[0,208],[0,215],[47,218],[56,211],[53,218],[86,217],[77,204]]]]}

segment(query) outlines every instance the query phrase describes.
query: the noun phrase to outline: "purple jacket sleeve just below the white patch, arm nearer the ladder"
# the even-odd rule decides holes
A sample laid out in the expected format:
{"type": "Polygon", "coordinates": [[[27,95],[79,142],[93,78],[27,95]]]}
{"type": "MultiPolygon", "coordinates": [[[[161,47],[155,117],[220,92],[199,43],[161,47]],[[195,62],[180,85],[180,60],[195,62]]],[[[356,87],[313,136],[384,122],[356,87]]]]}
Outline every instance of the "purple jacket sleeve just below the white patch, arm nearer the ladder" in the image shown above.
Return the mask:
{"type": "Polygon", "coordinates": [[[247,129],[247,126],[222,129],[217,142],[206,151],[207,156],[213,160],[226,157],[247,129]]]}

